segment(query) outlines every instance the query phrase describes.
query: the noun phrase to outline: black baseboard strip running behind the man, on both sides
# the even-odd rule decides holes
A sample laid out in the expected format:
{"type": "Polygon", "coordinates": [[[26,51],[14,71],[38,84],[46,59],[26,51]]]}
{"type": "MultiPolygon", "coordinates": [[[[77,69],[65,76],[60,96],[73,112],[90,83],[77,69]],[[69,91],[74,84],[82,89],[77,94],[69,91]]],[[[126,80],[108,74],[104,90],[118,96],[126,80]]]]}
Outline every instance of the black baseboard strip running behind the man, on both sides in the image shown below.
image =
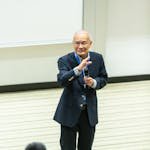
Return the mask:
{"type": "MultiPolygon", "coordinates": [[[[131,82],[131,81],[142,81],[142,80],[150,80],[150,75],[110,77],[108,79],[108,83],[131,82]]],[[[60,86],[57,84],[57,82],[4,85],[4,86],[0,86],[0,93],[39,90],[39,89],[51,89],[51,88],[59,88],[59,87],[60,86]]]]}

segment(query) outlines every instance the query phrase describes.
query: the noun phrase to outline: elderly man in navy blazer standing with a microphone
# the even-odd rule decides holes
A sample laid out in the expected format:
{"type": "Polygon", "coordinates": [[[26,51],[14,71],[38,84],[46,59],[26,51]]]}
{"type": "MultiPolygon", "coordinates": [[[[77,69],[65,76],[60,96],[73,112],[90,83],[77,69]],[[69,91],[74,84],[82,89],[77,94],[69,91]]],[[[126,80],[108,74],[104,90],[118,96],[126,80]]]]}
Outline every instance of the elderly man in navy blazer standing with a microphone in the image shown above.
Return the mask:
{"type": "Polygon", "coordinates": [[[61,150],[91,150],[98,123],[96,90],[107,83],[101,54],[90,52],[87,31],[73,37],[74,52],[58,60],[58,83],[64,87],[54,120],[61,124],[61,150]]]}

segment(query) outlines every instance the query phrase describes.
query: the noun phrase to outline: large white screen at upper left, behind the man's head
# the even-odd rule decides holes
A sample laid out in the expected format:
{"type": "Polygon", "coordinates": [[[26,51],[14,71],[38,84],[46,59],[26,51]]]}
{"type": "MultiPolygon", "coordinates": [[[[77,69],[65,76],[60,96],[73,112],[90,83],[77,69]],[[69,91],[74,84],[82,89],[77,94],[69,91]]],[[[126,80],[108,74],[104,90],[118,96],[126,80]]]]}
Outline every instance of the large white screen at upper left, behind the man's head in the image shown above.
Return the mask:
{"type": "Polygon", "coordinates": [[[1,0],[0,47],[71,42],[82,10],[83,0],[1,0]]]}

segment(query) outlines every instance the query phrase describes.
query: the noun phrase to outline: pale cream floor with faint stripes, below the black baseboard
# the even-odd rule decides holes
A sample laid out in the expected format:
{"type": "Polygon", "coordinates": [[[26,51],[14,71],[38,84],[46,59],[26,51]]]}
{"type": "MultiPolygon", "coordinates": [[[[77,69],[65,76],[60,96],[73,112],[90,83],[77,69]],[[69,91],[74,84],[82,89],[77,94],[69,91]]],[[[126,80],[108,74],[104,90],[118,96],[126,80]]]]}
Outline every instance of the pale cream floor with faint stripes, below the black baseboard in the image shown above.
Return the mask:
{"type": "MultiPolygon", "coordinates": [[[[0,149],[24,150],[33,141],[60,150],[53,120],[62,89],[0,94],[0,149]]],[[[99,90],[99,124],[92,150],[150,150],[150,81],[108,84],[99,90]]]]}

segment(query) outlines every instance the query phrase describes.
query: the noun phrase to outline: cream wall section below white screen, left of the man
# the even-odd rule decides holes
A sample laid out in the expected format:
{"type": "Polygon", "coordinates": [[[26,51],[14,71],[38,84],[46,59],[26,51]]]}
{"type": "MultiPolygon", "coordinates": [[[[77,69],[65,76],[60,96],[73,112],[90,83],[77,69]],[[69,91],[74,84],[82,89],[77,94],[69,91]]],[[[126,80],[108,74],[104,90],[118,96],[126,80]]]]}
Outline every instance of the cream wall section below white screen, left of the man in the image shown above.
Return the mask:
{"type": "Polygon", "coordinates": [[[0,49],[0,85],[56,81],[57,59],[71,44],[0,49]]]}

